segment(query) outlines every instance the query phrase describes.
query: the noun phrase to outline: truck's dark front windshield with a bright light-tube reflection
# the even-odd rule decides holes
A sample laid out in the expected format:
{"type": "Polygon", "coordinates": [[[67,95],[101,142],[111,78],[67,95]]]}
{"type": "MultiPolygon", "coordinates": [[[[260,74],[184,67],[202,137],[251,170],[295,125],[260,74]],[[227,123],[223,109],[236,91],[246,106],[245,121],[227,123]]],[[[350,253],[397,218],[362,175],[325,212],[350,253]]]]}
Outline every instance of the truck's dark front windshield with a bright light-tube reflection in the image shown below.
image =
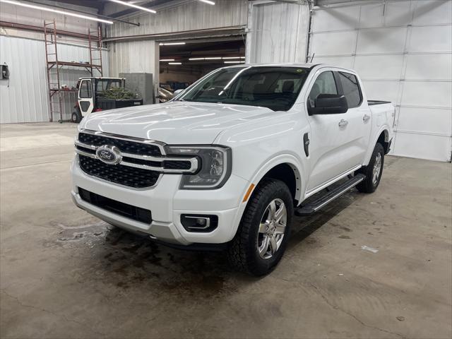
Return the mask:
{"type": "Polygon", "coordinates": [[[220,69],[202,78],[176,100],[268,107],[287,111],[309,69],[283,66],[244,66],[220,69]]]}

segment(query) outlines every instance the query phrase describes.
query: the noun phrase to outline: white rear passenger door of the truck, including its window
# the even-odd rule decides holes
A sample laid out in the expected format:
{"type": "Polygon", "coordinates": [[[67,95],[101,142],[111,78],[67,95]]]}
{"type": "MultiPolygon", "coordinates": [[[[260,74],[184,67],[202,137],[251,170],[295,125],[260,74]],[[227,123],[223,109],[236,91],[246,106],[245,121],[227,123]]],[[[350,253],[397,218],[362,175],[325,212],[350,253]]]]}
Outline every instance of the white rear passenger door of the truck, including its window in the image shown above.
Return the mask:
{"type": "Polygon", "coordinates": [[[347,139],[347,168],[362,165],[369,147],[371,134],[371,112],[364,100],[358,77],[347,71],[335,72],[339,93],[347,99],[348,111],[344,114],[347,139]]]}

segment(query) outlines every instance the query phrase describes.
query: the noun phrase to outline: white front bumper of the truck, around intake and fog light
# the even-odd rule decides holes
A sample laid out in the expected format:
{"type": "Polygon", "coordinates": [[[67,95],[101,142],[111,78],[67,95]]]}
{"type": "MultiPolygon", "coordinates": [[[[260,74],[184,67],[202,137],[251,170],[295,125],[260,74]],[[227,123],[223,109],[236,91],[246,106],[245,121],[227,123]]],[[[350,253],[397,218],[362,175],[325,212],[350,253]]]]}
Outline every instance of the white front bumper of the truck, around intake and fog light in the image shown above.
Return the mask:
{"type": "Polygon", "coordinates": [[[71,165],[71,172],[71,195],[76,206],[117,227],[179,245],[222,244],[232,240],[246,205],[242,198],[250,184],[232,174],[220,189],[181,190],[181,174],[164,174],[153,188],[137,190],[90,177],[80,169],[76,160],[71,165]],[[94,206],[81,198],[78,187],[150,210],[153,221],[150,224],[138,222],[94,206]],[[218,227],[208,233],[188,232],[180,221],[182,214],[218,215],[218,227]]]}

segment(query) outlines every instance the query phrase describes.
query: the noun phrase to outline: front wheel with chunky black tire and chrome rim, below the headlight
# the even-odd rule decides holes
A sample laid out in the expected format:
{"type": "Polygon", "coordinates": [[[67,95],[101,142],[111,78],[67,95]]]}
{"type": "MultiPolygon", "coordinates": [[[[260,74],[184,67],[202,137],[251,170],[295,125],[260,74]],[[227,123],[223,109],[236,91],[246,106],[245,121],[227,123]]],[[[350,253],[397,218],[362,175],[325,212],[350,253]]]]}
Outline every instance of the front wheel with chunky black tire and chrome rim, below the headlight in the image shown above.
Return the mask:
{"type": "Polygon", "coordinates": [[[227,256],[237,270],[252,275],[270,273],[283,257],[294,213],[284,182],[263,179],[251,197],[227,256]]]}

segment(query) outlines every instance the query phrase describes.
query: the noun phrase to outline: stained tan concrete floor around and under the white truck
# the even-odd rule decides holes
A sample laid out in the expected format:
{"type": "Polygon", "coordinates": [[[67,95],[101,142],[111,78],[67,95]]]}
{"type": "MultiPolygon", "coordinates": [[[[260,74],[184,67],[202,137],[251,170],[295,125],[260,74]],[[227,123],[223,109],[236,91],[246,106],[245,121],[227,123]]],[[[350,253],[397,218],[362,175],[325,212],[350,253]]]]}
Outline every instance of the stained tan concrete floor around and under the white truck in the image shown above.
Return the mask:
{"type": "Polygon", "coordinates": [[[256,279],[73,206],[75,134],[1,126],[1,338],[452,337],[451,164],[387,157],[256,279]]]}

